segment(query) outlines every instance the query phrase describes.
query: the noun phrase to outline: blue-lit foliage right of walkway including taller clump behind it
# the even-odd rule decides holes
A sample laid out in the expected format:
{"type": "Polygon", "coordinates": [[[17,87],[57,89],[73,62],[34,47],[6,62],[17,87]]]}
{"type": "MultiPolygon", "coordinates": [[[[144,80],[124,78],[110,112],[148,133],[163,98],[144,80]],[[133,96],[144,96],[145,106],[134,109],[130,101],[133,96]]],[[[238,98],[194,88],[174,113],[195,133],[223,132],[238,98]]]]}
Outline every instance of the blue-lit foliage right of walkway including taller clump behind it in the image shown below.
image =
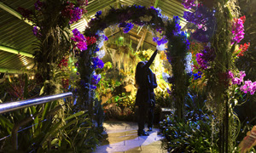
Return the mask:
{"type": "Polygon", "coordinates": [[[185,116],[174,114],[160,122],[166,139],[162,145],[170,152],[218,152],[218,127],[211,111],[207,111],[205,91],[189,89],[185,97],[185,116]]]}

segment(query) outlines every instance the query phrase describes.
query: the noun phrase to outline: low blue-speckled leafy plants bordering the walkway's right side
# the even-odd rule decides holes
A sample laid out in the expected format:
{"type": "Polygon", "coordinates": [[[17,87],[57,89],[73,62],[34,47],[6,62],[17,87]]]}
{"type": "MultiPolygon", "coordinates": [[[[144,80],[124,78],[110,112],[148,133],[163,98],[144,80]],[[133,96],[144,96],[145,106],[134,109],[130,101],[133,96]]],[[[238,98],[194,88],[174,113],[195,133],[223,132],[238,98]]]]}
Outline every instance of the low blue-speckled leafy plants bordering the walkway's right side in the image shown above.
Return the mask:
{"type": "Polygon", "coordinates": [[[160,122],[166,137],[162,140],[163,147],[170,152],[218,152],[218,133],[212,132],[212,117],[190,117],[185,116],[186,121],[180,122],[172,114],[160,122]]]}

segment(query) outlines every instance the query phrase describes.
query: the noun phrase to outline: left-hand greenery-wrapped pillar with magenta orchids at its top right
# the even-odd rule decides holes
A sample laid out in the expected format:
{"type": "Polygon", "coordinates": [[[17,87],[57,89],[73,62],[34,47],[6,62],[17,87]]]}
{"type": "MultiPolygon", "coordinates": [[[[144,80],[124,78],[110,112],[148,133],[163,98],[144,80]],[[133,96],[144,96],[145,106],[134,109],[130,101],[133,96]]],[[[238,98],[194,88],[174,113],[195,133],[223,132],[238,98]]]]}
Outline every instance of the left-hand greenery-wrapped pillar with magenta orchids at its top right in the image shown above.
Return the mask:
{"type": "Polygon", "coordinates": [[[18,8],[20,14],[32,22],[33,34],[38,38],[34,42],[34,59],[37,66],[37,78],[44,82],[44,94],[61,93],[58,77],[64,75],[57,71],[58,64],[71,48],[70,24],[78,21],[85,13],[85,1],[37,1],[35,8],[18,8]]]}

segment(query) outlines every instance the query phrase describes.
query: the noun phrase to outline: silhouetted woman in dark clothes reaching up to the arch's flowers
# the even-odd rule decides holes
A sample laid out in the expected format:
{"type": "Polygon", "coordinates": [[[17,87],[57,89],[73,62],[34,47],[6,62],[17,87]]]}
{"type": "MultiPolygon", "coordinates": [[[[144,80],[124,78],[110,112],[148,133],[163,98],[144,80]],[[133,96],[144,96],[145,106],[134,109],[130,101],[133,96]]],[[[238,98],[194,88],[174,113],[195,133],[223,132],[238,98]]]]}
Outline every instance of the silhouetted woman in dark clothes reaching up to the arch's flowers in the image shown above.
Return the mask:
{"type": "MultiPolygon", "coordinates": [[[[148,62],[141,61],[137,64],[137,67],[136,67],[135,81],[136,81],[136,87],[138,88],[138,90],[137,90],[135,105],[138,105],[138,130],[137,130],[138,136],[149,135],[144,131],[144,124],[145,124],[148,108],[152,105],[152,102],[153,102],[151,99],[153,98],[154,86],[155,86],[153,84],[154,73],[149,69],[149,66],[153,63],[157,52],[158,50],[154,51],[154,54],[151,56],[148,62]]],[[[151,130],[152,130],[152,127],[151,127],[151,130]]],[[[150,128],[149,128],[149,131],[150,131],[150,128]]]]}

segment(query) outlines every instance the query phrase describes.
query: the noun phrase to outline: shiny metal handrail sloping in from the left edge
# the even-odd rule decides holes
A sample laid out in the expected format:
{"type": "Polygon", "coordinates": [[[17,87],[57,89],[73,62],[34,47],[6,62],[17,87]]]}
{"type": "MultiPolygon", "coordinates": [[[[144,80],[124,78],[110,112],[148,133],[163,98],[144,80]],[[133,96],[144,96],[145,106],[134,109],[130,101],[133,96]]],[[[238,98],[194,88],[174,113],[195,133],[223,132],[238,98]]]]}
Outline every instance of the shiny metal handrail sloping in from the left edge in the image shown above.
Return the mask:
{"type": "Polygon", "coordinates": [[[0,104],[0,114],[6,113],[9,111],[19,110],[32,105],[44,104],[56,99],[64,99],[71,96],[73,96],[73,94],[72,92],[69,92],[69,93],[63,93],[63,94],[55,94],[50,96],[38,97],[34,99],[26,99],[26,100],[14,101],[14,102],[2,103],[0,104]]]}

